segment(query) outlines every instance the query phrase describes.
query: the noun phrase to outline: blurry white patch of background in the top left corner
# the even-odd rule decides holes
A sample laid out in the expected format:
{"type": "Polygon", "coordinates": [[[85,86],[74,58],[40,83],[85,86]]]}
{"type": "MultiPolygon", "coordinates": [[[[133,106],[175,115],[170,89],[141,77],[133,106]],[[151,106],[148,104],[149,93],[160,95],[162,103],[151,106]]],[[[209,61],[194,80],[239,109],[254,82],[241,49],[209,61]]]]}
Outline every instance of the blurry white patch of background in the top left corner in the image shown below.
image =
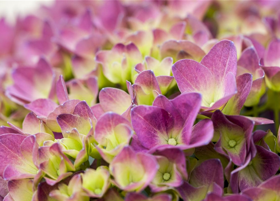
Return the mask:
{"type": "Polygon", "coordinates": [[[0,19],[5,17],[14,23],[17,16],[32,14],[41,5],[51,5],[54,0],[0,0],[0,19]]]}

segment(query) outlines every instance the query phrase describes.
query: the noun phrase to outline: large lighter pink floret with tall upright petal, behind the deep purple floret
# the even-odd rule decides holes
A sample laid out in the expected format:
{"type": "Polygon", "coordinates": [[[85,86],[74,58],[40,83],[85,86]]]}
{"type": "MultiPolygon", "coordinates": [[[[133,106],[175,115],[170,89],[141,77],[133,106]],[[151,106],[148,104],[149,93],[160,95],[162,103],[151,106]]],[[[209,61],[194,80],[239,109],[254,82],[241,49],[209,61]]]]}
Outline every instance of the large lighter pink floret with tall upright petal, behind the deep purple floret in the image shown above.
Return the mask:
{"type": "Polygon", "coordinates": [[[237,93],[236,70],[236,48],[233,42],[226,40],[213,46],[200,63],[185,59],[172,66],[180,91],[201,93],[201,106],[206,111],[221,108],[237,93]]]}

